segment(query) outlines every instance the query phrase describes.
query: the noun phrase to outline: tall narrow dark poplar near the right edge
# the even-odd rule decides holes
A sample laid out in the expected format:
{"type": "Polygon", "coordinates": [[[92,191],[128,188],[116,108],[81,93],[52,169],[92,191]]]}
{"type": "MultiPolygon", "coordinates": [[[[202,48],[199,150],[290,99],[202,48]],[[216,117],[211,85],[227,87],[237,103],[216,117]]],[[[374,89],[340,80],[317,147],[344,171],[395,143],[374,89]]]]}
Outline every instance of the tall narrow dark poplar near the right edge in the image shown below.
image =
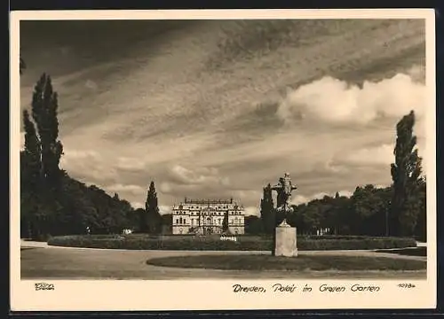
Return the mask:
{"type": "Polygon", "coordinates": [[[413,135],[415,113],[411,111],[396,125],[395,160],[391,166],[393,197],[389,230],[392,236],[410,236],[420,211],[421,158],[413,135]]]}

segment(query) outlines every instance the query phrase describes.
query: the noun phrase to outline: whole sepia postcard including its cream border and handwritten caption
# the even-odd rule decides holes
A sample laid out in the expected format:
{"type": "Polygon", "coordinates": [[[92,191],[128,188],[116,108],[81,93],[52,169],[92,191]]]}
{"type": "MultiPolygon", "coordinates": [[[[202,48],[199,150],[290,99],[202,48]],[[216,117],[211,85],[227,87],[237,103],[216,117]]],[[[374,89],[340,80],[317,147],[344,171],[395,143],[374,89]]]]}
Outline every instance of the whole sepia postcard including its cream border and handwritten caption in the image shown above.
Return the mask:
{"type": "Polygon", "coordinates": [[[17,20],[12,264],[29,293],[431,295],[433,12],[247,12],[17,20]]]}

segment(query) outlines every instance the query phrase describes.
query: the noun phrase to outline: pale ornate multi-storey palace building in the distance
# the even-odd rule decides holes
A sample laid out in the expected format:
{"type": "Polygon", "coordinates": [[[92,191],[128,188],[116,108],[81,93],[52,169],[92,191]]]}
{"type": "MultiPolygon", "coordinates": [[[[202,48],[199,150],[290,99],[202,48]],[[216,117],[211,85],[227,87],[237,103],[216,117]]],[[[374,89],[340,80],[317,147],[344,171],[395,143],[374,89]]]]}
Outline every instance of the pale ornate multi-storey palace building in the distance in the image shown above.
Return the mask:
{"type": "Polygon", "coordinates": [[[233,198],[188,199],[172,207],[172,233],[180,234],[221,234],[224,218],[232,234],[244,233],[244,209],[233,198]],[[227,217],[226,217],[227,216],[227,217]]]}

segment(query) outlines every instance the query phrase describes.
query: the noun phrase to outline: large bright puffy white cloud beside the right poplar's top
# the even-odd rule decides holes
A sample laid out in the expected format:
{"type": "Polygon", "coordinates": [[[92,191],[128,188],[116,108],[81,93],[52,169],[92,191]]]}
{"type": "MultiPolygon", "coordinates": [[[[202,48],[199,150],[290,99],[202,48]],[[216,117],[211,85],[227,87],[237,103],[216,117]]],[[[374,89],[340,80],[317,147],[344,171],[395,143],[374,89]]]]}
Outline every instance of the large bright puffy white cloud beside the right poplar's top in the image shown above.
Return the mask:
{"type": "MultiPolygon", "coordinates": [[[[413,71],[417,72],[417,71],[413,71]]],[[[289,91],[277,114],[284,121],[304,119],[324,123],[367,124],[380,117],[400,118],[410,110],[425,111],[425,86],[408,74],[360,88],[326,76],[289,91]]]]}

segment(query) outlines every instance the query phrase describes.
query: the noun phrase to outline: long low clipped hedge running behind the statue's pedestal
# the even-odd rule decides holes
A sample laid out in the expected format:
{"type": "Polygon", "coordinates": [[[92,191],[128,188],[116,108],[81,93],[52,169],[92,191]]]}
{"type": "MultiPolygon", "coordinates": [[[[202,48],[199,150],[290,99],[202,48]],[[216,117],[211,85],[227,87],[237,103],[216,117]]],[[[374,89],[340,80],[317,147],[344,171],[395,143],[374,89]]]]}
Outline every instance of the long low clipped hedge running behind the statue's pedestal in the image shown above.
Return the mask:
{"type": "MultiPolygon", "coordinates": [[[[97,237],[86,235],[52,237],[48,240],[48,245],[128,250],[271,251],[273,239],[270,237],[239,236],[237,241],[234,242],[219,240],[218,237],[97,237]]],[[[301,251],[373,250],[415,246],[415,239],[401,237],[297,238],[297,249],[301,251]]]]}

